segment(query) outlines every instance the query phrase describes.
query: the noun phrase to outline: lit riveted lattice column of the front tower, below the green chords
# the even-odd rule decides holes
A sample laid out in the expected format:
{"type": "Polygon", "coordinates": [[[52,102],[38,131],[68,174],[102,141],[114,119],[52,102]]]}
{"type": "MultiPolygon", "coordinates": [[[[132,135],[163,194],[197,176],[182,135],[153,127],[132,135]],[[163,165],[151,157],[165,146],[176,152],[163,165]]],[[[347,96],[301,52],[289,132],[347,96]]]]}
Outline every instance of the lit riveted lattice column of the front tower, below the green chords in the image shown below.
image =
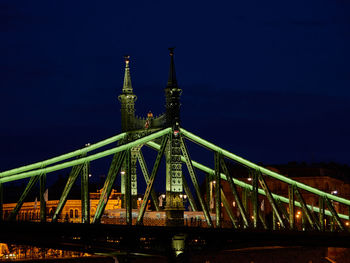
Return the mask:
{"type": "Polygon", "coordinates": [[[183,192],[180,134],[169,135],[165,150],[166,158],[166,222],[167,226],[181,226],[184,220],[184,206],[180,194],[183,192]]]}

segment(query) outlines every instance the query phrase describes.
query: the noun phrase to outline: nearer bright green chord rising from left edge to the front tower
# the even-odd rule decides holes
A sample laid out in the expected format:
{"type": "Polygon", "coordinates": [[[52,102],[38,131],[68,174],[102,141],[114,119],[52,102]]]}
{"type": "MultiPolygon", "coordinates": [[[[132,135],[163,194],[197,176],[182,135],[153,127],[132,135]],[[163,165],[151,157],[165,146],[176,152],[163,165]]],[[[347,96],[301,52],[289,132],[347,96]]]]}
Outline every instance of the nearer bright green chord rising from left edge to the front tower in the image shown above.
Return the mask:
{"type": "MultiPolygon", "coordinates": [[[[135,141],[129,142],[127,144],[120,145],[118,147],[115,147],[115,148],[112,148],[112,149],[109,149],[109,150],[106,150],[106,151],[103,151],[103,152],[100,152],[100,153],[96,153],[96,154],[93,154],[93,155],[90,155],[90,156],[87,156],[87,157],[84,157],[84,158],[80,158],[80,159],[73,160],[73,161],[68,161],[68,162],[65,162],[65,163],[62,163],[62,164],[57,164],[57,165],[54,165],[54,166],[38,169],[38,170],[35,170],[35,171],[30,171],[30,172],[25,172],[25,173],[20,173],[20,174],[15,174],[15,175],[3,177],[3,178],[0,179],[0,183],[16,181],[16,180],[20,180],[20,179],[36,176],[36,175],[39,175],[39,174],[44,174],[44,173],[48,174],[48,173],[55,172],[55,171],[58,171],[58,170],[62,170],[62,169],[68,168],[68,167],[72,167],[72,166],[75,166],[75,165],[83,164],[85,162],[91,162],[91,161],[94,161],[94,160],[106,157],[108,155],[112,155],[114,153],[122,152],[124,150],[130,149],[130,148],[135,147],[137,145],[144,144],[144,143],[146,143],[146,142],[148,142],[150,140],[154,140],[154,139],[156,139],[158,137],[161,137],[161,136],[163,136],[165,134],[168,134],[170,131],[171,131],[171,128],[166,128],[164,130],[152,133],[152,134],[150,134],[148,136],[145,136],[143,138],[140,138],[140,139],[137,139],[135,141]]],[[[88,147],[86,147],[84,149],[87,149],[87,148],[88,147]]]]}

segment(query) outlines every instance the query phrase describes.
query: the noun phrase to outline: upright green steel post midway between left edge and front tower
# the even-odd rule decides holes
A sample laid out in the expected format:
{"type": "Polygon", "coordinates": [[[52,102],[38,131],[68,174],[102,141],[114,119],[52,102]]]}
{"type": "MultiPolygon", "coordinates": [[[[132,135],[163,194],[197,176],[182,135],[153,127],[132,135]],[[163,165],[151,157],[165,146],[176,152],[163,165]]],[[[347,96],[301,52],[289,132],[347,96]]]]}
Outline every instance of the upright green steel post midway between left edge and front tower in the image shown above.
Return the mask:
{"type": "Polygon", "coordinates": [[[84,163],[81,173],[81,222],[90,223],[89,163],[84,163]]]}

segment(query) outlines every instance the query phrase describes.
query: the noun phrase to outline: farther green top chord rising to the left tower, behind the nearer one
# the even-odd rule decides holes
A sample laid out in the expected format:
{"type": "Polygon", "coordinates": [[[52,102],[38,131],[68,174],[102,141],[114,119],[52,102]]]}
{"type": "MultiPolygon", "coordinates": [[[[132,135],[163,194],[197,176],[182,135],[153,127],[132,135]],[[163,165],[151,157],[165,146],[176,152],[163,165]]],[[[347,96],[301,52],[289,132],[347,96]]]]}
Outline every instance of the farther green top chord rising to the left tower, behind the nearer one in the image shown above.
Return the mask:
{"type": "Polygon", "coordinates": [[[121,139],[123,139],[125,137],[125,135],[126,135],[126,133],[121,133],[121,134],[118,134],[118,135],[113,136],[111,138],[105,139],[105,140],[100,141],[100,142],[95,143],[95,144],[91,144],[88,147],[84,147],[82,149],[79,149],[79,150],[76,150],[76,151],[73,151],[73,152],[70,152],[70,153],[62,154],[60,156],[53,157],[53,158],[47,159],[47,160],[42,161],[42,162],[37,162],[37,163],[33,163],[33,164],[25,165],[25,166],[22,166],[22,167],[19,167],[19,168],[15,168],[15,169],[11,169],[11,170],[8,170],[8,171],[1,172],[0,173],[0,178],[6,177],[6,176],[10,176],[10,175],[14,175],[14,174],[18,174],[18,173],[22,173],[22,172],[29,171],[29,170],[34,170],[34,169],[37,169],[37,168],[47,167],[47,166],[49,166],[51,164],[67,160],[69,158],[77,157],[79,155],[85,154],[87,152],[96,150],[98,148],[101,148],[103,146],[106,146],[108,144],[116,142],[118,140],[121,140],[121,139]]]}

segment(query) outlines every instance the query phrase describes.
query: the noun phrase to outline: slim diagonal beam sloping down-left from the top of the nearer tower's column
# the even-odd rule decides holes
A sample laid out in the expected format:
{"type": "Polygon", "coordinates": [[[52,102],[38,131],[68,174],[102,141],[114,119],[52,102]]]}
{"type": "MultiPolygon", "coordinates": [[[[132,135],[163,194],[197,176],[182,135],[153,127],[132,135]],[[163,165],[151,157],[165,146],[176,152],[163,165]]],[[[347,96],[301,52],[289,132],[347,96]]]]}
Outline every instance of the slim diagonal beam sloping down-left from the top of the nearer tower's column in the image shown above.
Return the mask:
{"type": "Polygon", "coordinates": [[[151,173],[151,176],[150,176],[150,179],[149,179],[149,183],[147,184],[145,195],[143,196],[143,200],[142,200],[142,203],[141,203],[141,208],[140,208],[140,211],[139,211],[139,215],[137,217],[136,224],[138,224],[138,225],[143,223],[143,216],[144,216],[145,211],[146,211],[148,198],[149,198],[150,192],[152,190],[154,179],[156,178],[156,175],[157,175],[157,172],[158,172],[158,169],[159,169],[159,164],[160,164],[160,161],[162,160],[162,157],[163,157],[163,154],[164,154],[164,151],[165,151],[165,147],[167,146],[168,138],[169,138],[168,134],[164,135],[163,140],[162,140],[162,144],[161,144],[161,147],[160,147],[160,150],[158,151],[156,160],[154,162],[154,166],[153,166],[152,173],[151,173]]]}

